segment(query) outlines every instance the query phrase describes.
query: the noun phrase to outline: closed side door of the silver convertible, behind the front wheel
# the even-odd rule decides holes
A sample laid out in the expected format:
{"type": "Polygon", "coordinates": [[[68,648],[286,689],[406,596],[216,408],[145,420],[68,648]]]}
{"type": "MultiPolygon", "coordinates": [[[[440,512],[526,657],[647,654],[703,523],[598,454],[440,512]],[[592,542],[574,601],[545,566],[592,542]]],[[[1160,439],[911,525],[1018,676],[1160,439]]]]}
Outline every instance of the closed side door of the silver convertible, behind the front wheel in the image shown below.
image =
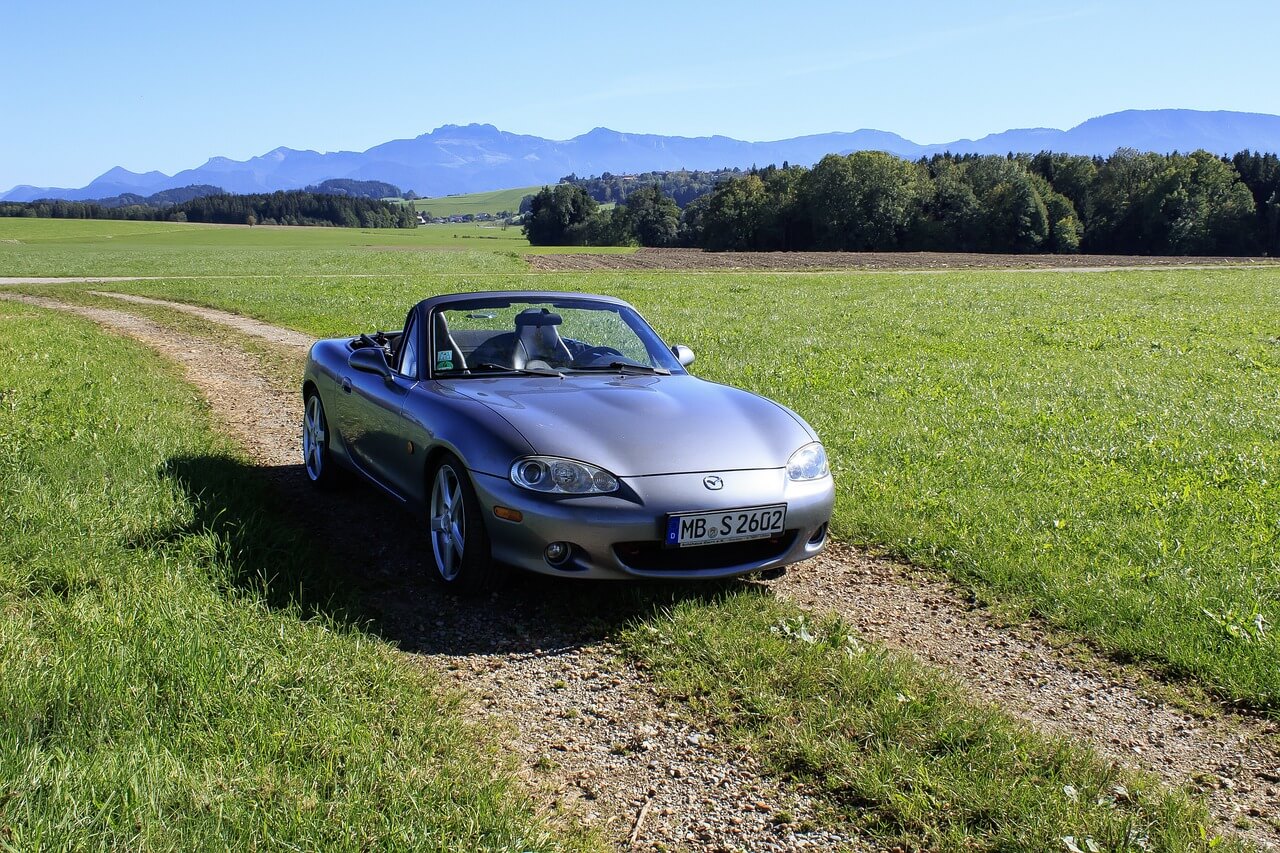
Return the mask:
{"type": "Polygon", "coordinates": [[[421,351],[421,328],[416,311],[411,311],[389,379],[349,368],[343,375],[343,391],[349,394],[344,402],[351,453],[369,476],[402,501],[408,497],[406,483],[411,460],[421,459],[420,453],[408,451],[401,416],[406,396],[417,384],[421,351]]]}

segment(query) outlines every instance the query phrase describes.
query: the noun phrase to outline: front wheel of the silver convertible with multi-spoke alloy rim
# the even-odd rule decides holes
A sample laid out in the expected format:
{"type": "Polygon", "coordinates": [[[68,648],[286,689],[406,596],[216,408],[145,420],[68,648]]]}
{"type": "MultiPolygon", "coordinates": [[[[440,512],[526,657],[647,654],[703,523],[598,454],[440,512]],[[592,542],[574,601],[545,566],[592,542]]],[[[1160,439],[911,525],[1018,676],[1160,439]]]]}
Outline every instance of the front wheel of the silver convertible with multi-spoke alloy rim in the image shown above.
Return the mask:
{"type": "Polygon", "coordinates": [[[466,466],[444,453],[428,475],[428,537],[433,578],[451,589],[481,592],[499,578],[489,549],[480,498],[466,466]]]}

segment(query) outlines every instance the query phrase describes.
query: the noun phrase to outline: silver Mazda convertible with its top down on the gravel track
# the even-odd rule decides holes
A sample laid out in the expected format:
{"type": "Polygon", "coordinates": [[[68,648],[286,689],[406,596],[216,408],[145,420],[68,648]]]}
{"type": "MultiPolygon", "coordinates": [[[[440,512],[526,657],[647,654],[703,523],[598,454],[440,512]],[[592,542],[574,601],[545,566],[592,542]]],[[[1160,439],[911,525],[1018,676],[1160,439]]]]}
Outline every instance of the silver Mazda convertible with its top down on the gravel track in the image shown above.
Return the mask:
{"type": "Polygon", "coordinates": [[[424,519],[439,579],[497,565],[577,578],[722,578],[822,551],[833,488],[813,429],[698,379],[626,302],[436,296],[401,332],[317,341],[307,476],[351,469],[424,519]]]}

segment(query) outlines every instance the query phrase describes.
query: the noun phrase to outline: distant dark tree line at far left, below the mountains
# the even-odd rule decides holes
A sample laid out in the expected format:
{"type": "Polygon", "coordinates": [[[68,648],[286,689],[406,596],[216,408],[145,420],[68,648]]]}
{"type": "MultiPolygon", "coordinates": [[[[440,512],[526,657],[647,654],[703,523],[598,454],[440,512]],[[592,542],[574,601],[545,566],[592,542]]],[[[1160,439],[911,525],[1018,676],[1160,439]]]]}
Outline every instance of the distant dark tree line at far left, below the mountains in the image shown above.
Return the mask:
{"type": "Polygon", "coordinates": [[[218,193],[166,206],[97,201],[6,201],[0,216],[50,219],[131,219],[142,222],[204,222],[248,225],[338,225],[343,228],[416,228],[412,209],[376,199],[306,191],[233,195],[218,193]]]}

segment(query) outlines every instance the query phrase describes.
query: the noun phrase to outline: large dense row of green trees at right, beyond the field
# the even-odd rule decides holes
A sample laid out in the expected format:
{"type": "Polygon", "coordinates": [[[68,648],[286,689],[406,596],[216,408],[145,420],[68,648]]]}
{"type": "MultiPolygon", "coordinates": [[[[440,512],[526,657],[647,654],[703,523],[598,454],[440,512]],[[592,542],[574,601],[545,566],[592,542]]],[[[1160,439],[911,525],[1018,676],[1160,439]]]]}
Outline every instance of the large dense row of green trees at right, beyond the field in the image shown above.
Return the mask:
{"type": "Polygon", "coordinates": [[[710,251],[1280,255],[1280,159],[940,154],[828,155],[727,175],[684,205],[658,183],[602,209],[580,183],[544,187],[534,245],[710,251]]]}

